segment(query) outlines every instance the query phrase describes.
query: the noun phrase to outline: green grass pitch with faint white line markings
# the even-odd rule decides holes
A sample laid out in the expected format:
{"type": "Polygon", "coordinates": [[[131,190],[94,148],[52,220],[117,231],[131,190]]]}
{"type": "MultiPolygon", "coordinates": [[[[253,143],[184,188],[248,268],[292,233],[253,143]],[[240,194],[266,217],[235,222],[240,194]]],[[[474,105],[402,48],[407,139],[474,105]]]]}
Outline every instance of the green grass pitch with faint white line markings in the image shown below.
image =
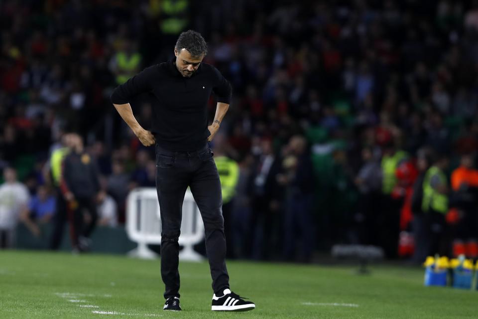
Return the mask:
{"type": "Polygon", "coordinates": [[[180,263],[180,313],[164,312],[159,261],[0,252],[0,318],[477,318],[478,292],[423,287],[423,270],[228,262],[231,288],[256,309],[211,312],[207,263],[180,263]]]}

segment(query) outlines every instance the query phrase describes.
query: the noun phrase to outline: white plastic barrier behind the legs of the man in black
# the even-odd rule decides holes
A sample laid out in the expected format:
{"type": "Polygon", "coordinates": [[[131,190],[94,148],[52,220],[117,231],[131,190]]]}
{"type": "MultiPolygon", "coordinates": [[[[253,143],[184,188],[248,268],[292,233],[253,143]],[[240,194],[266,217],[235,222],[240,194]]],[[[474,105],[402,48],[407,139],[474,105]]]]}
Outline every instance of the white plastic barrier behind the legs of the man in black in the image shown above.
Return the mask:
{"type": "MultiPolygon", "coordinates": [[[[135,188],[126,199],[126,232],[129,239],[138,247],[128,256],[156,258],[148,244],[161,244],[161,218],[158,196],[155,188],[135,188]]],[[[179,245],[184,248],[179,253],[180,260],[202,261],[204,257],[194,251],[193,246],[204,238],[204,225],[199,208],[191,191],[186,191],[183,202],[183,216],[179,245]]]]}

